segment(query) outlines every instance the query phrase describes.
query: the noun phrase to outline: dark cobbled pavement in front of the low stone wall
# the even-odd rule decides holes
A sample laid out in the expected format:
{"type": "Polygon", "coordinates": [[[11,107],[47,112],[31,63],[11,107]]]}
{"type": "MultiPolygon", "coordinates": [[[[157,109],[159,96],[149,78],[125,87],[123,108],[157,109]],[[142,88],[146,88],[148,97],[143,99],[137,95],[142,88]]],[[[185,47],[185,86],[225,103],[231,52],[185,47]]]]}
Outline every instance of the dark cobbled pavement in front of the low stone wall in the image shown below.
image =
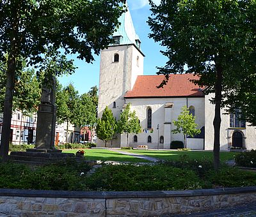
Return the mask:
{"type": "MultiPolygon", "coordinates": [[[[163,217],[167,217],[163,216],[163,217]]],[[[218,216],[225,216],[225,217],[255,217],[256,216],[256,203],[253,204],[244,204],[241,206],[236,207],[228,207],[228,208],[221,208],[215,209],[212,211],[204,211],[199,213],[189,213],[189,214],[179,214],[179,215],[172,215],[174,217],[183,217],[183,216],[193,216],[193,217],[218,217],[218,216]]]]}

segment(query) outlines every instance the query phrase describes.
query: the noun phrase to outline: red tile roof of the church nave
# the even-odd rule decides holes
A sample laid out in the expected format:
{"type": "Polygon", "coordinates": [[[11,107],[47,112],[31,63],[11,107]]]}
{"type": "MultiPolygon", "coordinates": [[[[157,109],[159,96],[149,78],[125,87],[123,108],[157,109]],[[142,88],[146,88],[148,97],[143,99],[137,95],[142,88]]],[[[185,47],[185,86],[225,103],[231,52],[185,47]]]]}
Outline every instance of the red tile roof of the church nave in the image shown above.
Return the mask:
{"type": "Polygon", "coordinates": [[[193,74],[170,75],[163,88],[157,88],[164,75],[139,75],[132,91],[127,91],[125,98],[163,98],[163,97],[204,97],[199,86],[189,79],[198,77],[193,74]]]}

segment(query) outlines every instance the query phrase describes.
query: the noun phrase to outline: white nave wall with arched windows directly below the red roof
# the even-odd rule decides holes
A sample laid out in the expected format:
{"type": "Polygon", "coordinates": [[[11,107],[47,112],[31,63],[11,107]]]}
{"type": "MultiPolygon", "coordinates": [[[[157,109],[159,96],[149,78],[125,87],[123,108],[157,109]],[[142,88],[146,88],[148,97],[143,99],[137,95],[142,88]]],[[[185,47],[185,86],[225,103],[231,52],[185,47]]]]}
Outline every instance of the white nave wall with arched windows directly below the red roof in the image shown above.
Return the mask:
{"type": "MultiPolygon", "coordinates": [[[[159,144],[159,147],[163,149],[170,149],[170,142],[173,140],[184,142],[184,135],[182,133],[173,134],[171,132],[171,130],[175,129],[175,126],[170,123],[173,123],[173,120],[177,119],[181,108],[187,105],[187,101],[188,106],[193,105],[195,107],[196,123],[201,128],[204,126],[204,98],[127,98],[126,103],[131,103],[131,110],[136,111],[136,115],[141,121],[141,128],[144,129],[143,132],[137,135],[138,142],[133,142],[134,135],[130,135],[129,146],[147,145],[149,148],[157,148],[158,139],[161,136],[164,137],[164,144],[159,144]],[[173,103],[173,107],[166,110],[164,108],[166,103],[173,103]],[[148,107],[152,109],[152,128],[154,128],[154,132],[152,133],[149,131],[146,133],[145,131],[147,128],[148,107]],[[172,114],[169,116],[166,112],[171,112],[172,114]],[[171,117],[171,119],[167,121],[166,117],[171,117]],[[159,138],[157,124],[159,124],[159,138]],[[151,143],[147,142],[148,136],[152,137],[151,143]]],[[[202,147],[201,143],[198,146],[202,147]]]]}

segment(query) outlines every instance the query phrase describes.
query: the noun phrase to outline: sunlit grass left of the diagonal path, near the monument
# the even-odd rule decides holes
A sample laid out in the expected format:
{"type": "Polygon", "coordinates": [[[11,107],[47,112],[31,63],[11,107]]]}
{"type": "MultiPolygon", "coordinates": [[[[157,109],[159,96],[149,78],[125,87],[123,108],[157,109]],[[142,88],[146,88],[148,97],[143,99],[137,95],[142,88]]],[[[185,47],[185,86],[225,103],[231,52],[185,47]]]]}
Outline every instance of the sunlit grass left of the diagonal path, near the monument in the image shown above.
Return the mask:
{"type": "MultiPolygon", "coordinates": [[[[78,149],[63,150],[63,153],[76,153],[78,149]]],[[[108,149],[84,149],[86,160],[102,160],[102,161],[127,161],[127,162],[148,162],[133,156],[116,153],[108,149]]]]}

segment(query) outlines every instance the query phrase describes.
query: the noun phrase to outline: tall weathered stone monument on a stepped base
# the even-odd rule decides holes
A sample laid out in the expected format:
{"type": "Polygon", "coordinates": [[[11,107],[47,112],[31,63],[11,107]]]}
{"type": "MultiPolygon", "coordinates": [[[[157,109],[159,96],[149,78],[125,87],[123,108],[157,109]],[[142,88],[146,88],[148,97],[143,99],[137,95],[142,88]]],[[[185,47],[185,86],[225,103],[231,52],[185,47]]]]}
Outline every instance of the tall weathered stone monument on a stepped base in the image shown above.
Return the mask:
{"type": "Polygon", "coordinates": [[[61,153],[54,147],[56,128],[56,79],[44,86],[41,103],[37,112],[35,148],[26,151],[12,151],[10,160],[29,164],[54,163],[67,158],[75,158],[75,154],[61,153]]]}

